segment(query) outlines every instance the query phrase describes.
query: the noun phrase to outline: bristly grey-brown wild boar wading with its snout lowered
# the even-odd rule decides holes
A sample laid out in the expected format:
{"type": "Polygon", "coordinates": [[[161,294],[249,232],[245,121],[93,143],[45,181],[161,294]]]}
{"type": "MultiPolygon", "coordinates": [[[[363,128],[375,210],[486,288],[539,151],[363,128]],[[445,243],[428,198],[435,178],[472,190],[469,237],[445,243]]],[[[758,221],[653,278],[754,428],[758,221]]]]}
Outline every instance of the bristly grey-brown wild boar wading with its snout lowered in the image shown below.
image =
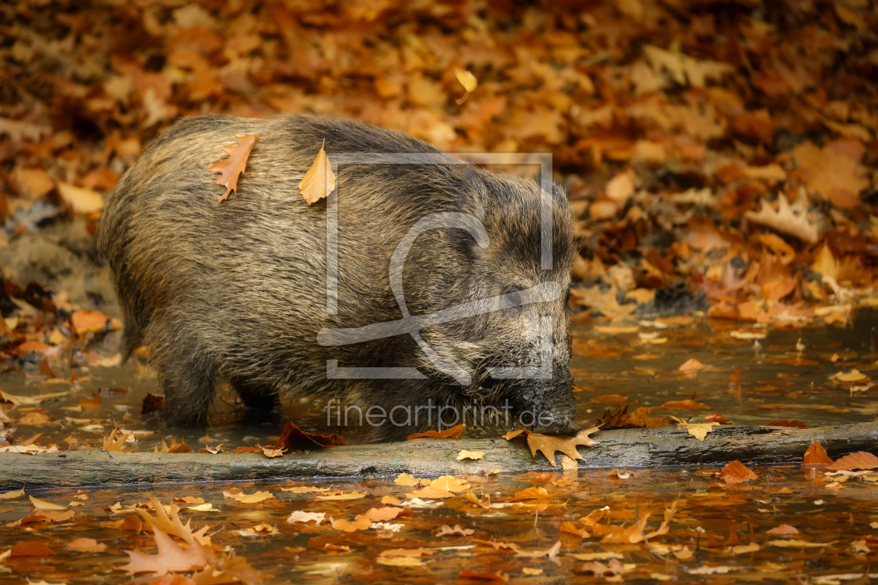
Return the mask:
{"type": "MultiPolygon", "coordinates": [[[[545,281],[566,289],[574,244],[563,189],[551,194],[554,264],[543,271],[536,182],[459,164],[343,166],[338,312],[327,315],[326,203],[309,206],[298,189],[324,140],[330,159],[333,153],[438,153],[399,132],[331,118],[186,118],[155,139],[112,192],[98,248],[125,311],[124,351],[149,347],[165,392],[165,420],[206,424],[217,384],[228,381],[248,405],[313,392],[363,411],[428,399],[462,407],[508,398],[516,410],[536,404],[572,423],[570,313],[563,296],[424,330],[437,353],[471,373],[469,388],[437,372],[407,335],[353,346],[316,342],[325,327],[401,317],[388,277],[391,254],[431,212],[479,218],[491,243],[479,247],[457,229],[421,234],[404,272],[412,315],[545,281]],[[207,168],[224,156],[220,146],[243,134],[258,136],[247,172],[237,192],[218,204],[221,189],[207,168]],[[486,367],[538,365],[539,314],[552,317],[553,380],[488,383],[486,367]],[[427,380],[327,380],[327,360],[342,367],[417,367],[427,380]]],[[[373,436],[408,432],[385,424],[373,436]]]]}

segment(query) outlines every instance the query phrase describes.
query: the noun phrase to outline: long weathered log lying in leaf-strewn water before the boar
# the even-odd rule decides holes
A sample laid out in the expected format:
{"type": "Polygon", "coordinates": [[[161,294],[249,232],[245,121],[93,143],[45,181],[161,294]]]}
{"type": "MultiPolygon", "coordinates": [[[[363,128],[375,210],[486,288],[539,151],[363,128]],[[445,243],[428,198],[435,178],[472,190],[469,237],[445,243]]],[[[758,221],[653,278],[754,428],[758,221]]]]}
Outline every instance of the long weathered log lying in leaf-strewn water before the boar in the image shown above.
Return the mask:
{"type": "MultiPolygon", "coordinates": [[[[595,432],[594,447],[579,447],[580,469],[800,463],[815,439],[836,459],[856,451],[878,453],[878,423],[839,424],[815,429],[715,427],[703,442],[675,426],[595,432]]],[[[560,453],[558,461],[560,460],[560,453]]],[[[363,475],[479,474],[551,471],[531,456],[521,439],[415,439],[405,443],[336,446],[269,459],[262,453],[117,453],[67,451],[27,455],[0,453],[0,490],[82,488],[186,482],[236,482],[363,475]],[[457,460],[462,449],[481,451],[480,460],[457,460]]]]}

